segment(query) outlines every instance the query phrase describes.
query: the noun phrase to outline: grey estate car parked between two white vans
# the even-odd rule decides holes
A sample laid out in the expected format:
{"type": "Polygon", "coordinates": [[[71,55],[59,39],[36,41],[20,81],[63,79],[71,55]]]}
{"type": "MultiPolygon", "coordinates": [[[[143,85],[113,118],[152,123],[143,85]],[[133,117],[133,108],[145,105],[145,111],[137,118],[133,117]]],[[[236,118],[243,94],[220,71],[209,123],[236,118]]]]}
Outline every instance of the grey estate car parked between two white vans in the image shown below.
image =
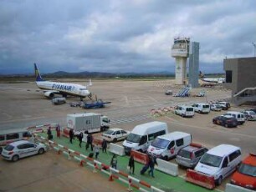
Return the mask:
{"type": "Polygon", "coordinates": [[[176,161],[184,167],[194,168],[208,149],[201,144],[190,144],[179,150],[176,161]]]}

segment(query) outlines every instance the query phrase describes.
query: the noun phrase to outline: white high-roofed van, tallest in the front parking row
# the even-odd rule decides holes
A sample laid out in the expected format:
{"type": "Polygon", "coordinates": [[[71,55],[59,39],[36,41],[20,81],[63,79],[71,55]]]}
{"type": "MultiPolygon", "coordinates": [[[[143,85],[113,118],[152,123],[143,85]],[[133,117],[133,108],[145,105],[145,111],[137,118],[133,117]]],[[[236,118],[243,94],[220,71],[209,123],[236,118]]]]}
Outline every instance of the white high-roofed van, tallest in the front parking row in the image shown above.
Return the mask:
{"type": "Polygon", "coordinates": [[[137,125],[123,142],[125,154],[130,154],[131,149],[146,152],[151,141],[157,136],[168,133],[167,124],[160,121],[153,121],[137,125]]]}

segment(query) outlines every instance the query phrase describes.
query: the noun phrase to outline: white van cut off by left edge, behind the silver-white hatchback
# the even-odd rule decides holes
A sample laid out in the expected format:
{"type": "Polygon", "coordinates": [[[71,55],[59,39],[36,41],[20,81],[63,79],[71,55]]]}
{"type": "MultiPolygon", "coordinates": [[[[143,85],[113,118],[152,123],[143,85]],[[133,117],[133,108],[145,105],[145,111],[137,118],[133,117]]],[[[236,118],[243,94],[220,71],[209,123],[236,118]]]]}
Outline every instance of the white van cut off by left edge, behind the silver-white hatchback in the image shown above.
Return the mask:
{"type": "MultiPolygon", "coordinates": [[[[3,145],[13,143],[22,139],[30,139],[32,134],[26,129],[5,129],[0,133],[0,148],[3,145]]],[[[2,148],[1,148],[2,149],[2,148]]],[[[0,149],[0,152],[1,152],[0,149]]],[[[1,153],[0,153],[1,154],[1,153]]]]}

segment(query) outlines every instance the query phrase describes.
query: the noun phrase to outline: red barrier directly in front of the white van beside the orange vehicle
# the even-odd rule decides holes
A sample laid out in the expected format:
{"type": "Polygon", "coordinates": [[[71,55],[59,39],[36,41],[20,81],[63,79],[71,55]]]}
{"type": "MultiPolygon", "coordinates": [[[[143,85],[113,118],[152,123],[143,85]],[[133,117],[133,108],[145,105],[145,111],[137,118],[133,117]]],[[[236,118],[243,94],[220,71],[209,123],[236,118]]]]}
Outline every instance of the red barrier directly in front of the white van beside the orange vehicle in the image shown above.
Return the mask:
{"type": "Polygon", "coordinates": [[[214,182],[213,176],[201,174],[192,169],[187,169],[186,181],[193,183],[193,184],[203,186],[207,189],[215,188],[215,182],[214,182]]]}

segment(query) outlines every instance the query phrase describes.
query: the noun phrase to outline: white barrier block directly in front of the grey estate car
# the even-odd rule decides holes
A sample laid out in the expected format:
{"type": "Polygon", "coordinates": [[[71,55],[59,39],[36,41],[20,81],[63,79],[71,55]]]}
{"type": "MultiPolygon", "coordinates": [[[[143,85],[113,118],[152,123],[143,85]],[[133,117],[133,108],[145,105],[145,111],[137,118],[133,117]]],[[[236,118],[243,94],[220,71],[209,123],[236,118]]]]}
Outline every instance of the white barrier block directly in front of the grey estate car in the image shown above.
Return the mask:
{"type": "Polygon", "coordinates": [[[168,162],[166,160],[162,159],[156,159],[156,162],[158,166],[156,169],[161,170],[162,172],[166,174],[171,174],[172,176],[177,176],[178,175],[178,165],[177,164],[172,164],[171,162],[168,162]]]}

